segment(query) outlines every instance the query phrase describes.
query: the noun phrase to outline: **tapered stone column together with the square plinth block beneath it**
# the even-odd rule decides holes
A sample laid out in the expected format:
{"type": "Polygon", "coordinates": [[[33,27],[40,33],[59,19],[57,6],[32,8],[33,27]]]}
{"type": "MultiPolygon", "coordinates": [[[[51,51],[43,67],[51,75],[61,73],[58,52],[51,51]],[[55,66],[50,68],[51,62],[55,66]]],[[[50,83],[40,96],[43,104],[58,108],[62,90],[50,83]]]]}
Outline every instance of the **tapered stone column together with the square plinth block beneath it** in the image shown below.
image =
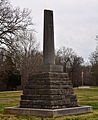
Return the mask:
{"type": "Polygon", "coordinates": [[[53,11],[44,10],[43,65],[40,72],[63,72],[63,66],[55,65],[53,11]]]}

